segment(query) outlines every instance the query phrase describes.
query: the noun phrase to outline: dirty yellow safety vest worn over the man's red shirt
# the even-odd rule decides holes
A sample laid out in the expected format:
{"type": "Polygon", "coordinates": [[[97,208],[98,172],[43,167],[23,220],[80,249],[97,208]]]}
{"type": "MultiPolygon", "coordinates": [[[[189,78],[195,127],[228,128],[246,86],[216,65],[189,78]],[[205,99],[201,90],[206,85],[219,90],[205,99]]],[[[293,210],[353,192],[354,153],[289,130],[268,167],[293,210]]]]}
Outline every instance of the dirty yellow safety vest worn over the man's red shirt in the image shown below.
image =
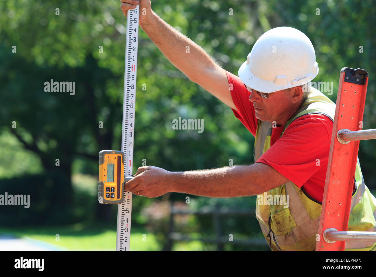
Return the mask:
{"type": "MultiPolygon", "coordinates": [[[[308,113],[321,113],[334,121],[335,104],[312,87],[308,98],[285,124],[281,136],[294,119],[308,113]]],[[[255,162],[270,148],[272,130],[271,122],[258,121],[255,136],[255,162]]],[[[376,231],[376,198],[364,184],[359,159],[356,163],[355,182],[356,190],[352,196],[347,230],[376,231]]],[[[320,202],[307,196],[291,181],[258,195],[257,199],[256,218],[273,251],[315,250],[321,214],[320,202]],[[283,199],[287,199],[287,195],[288,207],[283,204],[283,199]],[[265,202],[265,197],[268,202],[265,202]]],[[[351,251],[374,251],[375,249],[376,243],[372,242],[346,242],[345,245],[345,250],[351,251]]]]}

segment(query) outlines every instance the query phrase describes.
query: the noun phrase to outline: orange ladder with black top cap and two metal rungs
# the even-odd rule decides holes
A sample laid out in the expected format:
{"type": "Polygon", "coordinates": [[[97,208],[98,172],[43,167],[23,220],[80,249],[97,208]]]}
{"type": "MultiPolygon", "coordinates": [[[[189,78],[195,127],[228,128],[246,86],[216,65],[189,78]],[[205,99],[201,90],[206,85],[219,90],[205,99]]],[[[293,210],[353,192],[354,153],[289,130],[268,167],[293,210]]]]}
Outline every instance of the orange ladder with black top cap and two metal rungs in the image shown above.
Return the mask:
{"type": "Polygon", "coordinates": [[[361,130],[368,73],[344,67],[340,73],[316,251],[344,251],[346,241],[375,241],[376,232],[347,231],[359,141],[376,139],[361,130]]]}

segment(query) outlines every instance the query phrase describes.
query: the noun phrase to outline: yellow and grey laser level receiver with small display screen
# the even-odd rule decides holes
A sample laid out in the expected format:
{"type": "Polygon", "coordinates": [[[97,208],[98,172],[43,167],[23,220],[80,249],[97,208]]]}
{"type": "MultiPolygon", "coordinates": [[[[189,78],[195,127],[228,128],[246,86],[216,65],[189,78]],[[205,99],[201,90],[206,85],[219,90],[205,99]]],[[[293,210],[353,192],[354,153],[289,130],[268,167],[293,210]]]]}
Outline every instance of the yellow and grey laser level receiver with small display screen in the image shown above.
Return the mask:
{"type": "Polygon", "coordinates": [[[100,204],[123,202],[124,184],[130,179],[132,179],[130,176],[124,177],[123,151],[102,150],[99,152],[98,201],[100,204]]]}

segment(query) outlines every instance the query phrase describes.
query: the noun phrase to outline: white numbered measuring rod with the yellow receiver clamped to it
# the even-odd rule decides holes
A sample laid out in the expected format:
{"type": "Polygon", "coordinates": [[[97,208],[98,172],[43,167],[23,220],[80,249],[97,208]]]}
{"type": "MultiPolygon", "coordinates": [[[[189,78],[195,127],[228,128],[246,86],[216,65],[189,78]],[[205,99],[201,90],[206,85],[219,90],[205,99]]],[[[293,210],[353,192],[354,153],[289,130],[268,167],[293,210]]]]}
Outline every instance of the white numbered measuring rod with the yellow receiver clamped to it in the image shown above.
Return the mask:
{"type": "Polygon", "coordinates": [[[116,251],[129,251],[132,193],[124,191],[124,184],[132,179],[138,17],[139,6],[136,6],[133,10],[128,10],[121,151],[103,150],[99,153],[98,200],[101,204],[119,204],[116,251]]]}

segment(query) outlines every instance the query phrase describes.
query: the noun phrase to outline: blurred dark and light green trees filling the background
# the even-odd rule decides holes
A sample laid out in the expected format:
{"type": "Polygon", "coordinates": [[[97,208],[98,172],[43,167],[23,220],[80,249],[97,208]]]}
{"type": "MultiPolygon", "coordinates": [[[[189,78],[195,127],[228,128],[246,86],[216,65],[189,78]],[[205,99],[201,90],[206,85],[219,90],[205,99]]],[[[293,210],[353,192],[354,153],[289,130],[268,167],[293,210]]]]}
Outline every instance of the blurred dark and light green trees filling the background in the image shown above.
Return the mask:
{"type": "MultiPolygon", "coordinates": [[[[152,9],[234,74],[262,33],[277,26],[299,29],[315,47],[320,71],[314,81],[334,82],[334,94],[329,96],[333,101],[342,67],[368,70],[364,128],[376,126],[372,1],[159,0],[152,1],[152,9]]],[[[115,228],[116,207],[97,204],[92,193],[96,182],[80,191],[72,176],[97,178],[99,151],[120,149],[126,18],[119,1],[6,0],[0,3],[0,15],[0,193],[29,191],[36,201],[27,211],[2,208],[0,224],[17,226],[22,218],[23,224],[38,226],[106,222],[115,228]],[[60,15],[55,15],[56,8],[60,15]],[[50,79],[75,81],[76,94],[44,92],[44,82],[50,79]],[[16,129],[11,127],[13,121],[16,129]],[[98,128],[99,121],[103,129],[98,128]],[[59,167],[55,159],[60,160],[59,167]]],[[[229,159],[234,164],[253,162],[254,138],[229,107],[188,80],[141,28],[137,73],[133,172],[143,159],[171,171],[223,167],[229,159]],[[147,90],[141,90],[143,84],[147,90]],[[203,119],[204,132],[172,130],[172,120],[179,116],[203,119]]],[[[359,159],[371,190],[376,188],[375,155],[374,142],[361,142],[359,159]]],[[[185,197],[134,197],[133,223],[146,226],[140,211],[153,202],[185,201],[185,197]]],[[[197,208],[214,205],[213,199],[193,198],[197,208]]],[[[250,197],[218,202],[235,208],[255,205],[250,197]]],[[[197,227],[193,231],[213,232],[206,219],[193,222],[197,227]]],[[[223,223],[226,232],[260,237],[253,218],[223,223]]],[[[157,229],[150,230],[166,233],[166,228],[157,229]]],[[[160,240],[166,239],[161,235],[160,240]]]]}

